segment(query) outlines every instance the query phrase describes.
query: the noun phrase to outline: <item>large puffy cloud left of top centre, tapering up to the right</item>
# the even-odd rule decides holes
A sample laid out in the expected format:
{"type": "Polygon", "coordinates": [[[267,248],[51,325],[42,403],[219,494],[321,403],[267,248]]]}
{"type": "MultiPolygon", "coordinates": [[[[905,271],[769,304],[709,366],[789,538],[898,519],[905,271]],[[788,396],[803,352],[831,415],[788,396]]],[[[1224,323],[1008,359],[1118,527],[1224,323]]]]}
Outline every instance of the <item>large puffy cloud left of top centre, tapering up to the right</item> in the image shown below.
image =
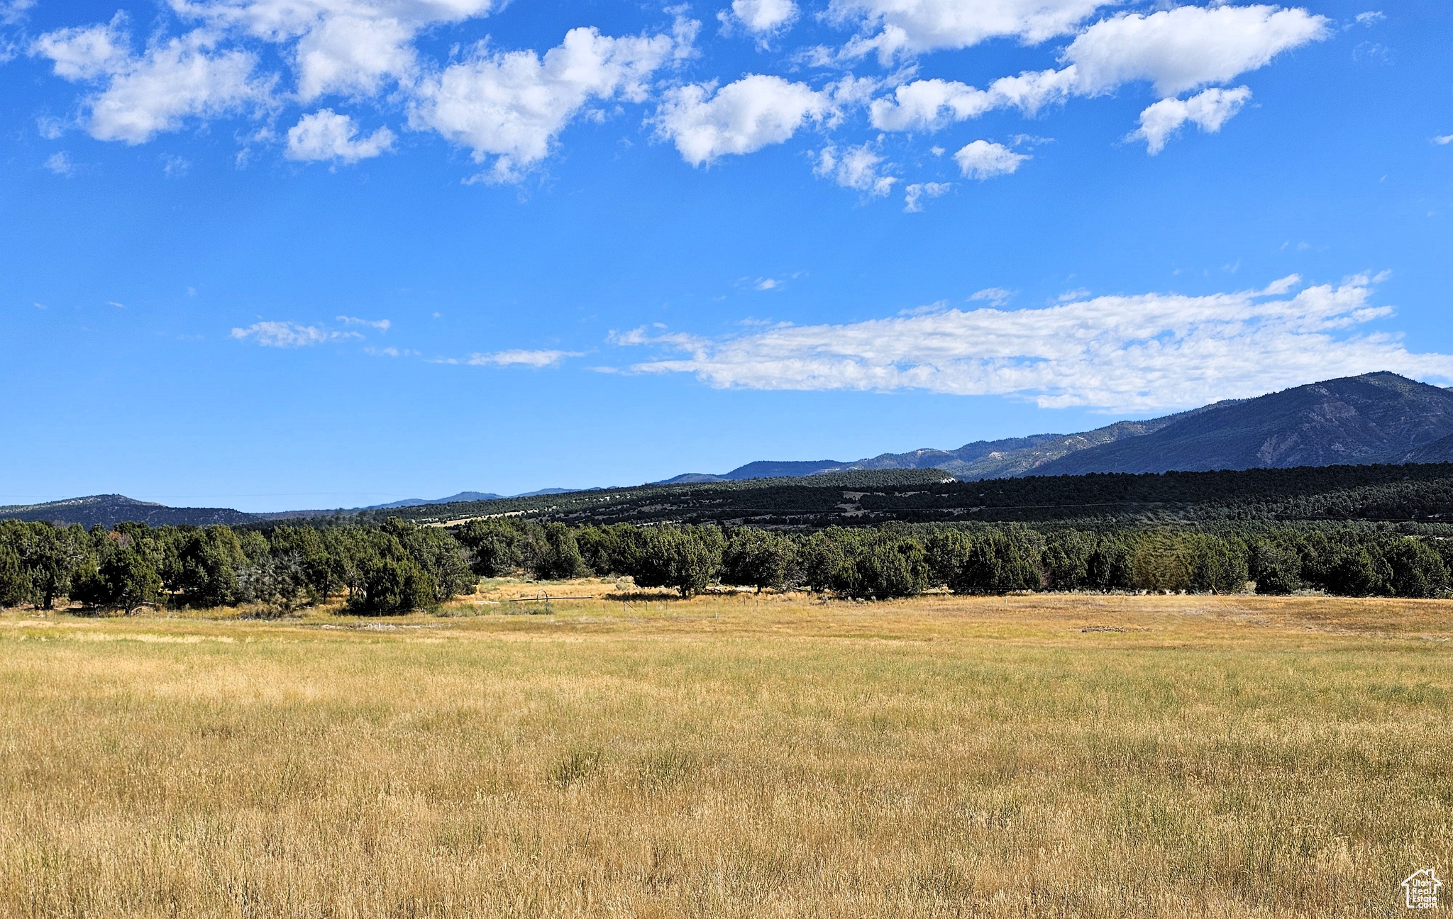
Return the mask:
{"type": "Polygon", "coordinates": [[[612,38],[580,28],[543,58],[479,52],[423,81],[410,122],[469,147],[477,163],[495,157],[488,181],[514,181],[591,100],[642,102],[651,74],[684,54],[679,39],[693,33],[681,23],[677,38],[612,38]]]}

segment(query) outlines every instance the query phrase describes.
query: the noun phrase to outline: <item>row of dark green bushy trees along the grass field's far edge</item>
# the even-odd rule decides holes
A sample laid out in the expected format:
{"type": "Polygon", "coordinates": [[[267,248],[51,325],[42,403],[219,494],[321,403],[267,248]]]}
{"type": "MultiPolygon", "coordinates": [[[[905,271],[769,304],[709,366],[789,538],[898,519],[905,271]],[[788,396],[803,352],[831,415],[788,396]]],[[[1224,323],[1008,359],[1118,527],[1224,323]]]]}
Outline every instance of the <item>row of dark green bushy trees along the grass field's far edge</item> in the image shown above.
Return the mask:
{"type": "Polygon", "coordinates": [[[1004,526],[567,526],[497,517],[453,531],[382,526],[108,530],[0,521],[0,605],[206,608],[260,614],[432,608],[479,578],[629,576],[690,597],[712,585],[854,598],[1011,591],[1186,591],[1440,597],[1453,539],[1366,527],[1075,530],[1004,526]]]}

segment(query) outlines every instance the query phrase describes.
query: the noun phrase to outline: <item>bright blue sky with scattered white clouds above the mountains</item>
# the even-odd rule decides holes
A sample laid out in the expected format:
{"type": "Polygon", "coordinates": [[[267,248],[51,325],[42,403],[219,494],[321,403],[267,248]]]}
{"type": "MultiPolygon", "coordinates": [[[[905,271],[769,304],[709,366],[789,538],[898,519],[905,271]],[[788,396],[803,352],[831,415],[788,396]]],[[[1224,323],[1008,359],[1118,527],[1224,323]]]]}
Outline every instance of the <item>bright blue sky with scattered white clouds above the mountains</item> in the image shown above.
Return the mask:
{"type": "Polygon", "coordinates": [[[1453,7],[3,7],[0,502],[635,483],[1453,383],[1453,7]]]}

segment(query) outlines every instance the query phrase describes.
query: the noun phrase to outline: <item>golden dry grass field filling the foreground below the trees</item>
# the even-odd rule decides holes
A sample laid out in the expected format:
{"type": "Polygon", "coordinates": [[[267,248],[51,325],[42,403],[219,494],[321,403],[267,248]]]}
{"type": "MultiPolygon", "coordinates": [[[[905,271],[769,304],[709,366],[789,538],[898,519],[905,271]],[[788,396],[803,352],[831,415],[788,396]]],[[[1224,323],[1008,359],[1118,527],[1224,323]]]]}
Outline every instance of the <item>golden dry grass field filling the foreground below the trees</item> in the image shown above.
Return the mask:
{"type": "Polygon", "coordinates": [[[487,600],[0,616],[0,916],[1388,916],[1453,874],[1449,603],[487,600]]]}

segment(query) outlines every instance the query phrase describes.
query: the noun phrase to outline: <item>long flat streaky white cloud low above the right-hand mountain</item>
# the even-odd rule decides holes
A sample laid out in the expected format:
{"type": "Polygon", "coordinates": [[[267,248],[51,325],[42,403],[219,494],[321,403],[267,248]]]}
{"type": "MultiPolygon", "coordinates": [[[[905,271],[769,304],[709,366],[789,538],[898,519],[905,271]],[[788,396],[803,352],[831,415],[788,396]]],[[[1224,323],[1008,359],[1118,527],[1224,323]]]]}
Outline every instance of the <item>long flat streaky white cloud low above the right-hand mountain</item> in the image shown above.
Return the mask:
{"type": "Polygon", "coordinates": [[[1392,315],[1391,308],[1370,305],[1370,279],[1293,296],[1268,293],[1296,286],[1295,279],[1286,282],[1207,296],[1146,293],[1042,309],[949,309],[773,328],[721,341],[680,337],[673,344],[686,357],[634,369],[695,373],[718,388],[926,389],[1106,411],[1200,405],[1372,370],[1453,380],[1453,356],[1409,353],[1401,335],[1359,331],[1392,315]]]}

